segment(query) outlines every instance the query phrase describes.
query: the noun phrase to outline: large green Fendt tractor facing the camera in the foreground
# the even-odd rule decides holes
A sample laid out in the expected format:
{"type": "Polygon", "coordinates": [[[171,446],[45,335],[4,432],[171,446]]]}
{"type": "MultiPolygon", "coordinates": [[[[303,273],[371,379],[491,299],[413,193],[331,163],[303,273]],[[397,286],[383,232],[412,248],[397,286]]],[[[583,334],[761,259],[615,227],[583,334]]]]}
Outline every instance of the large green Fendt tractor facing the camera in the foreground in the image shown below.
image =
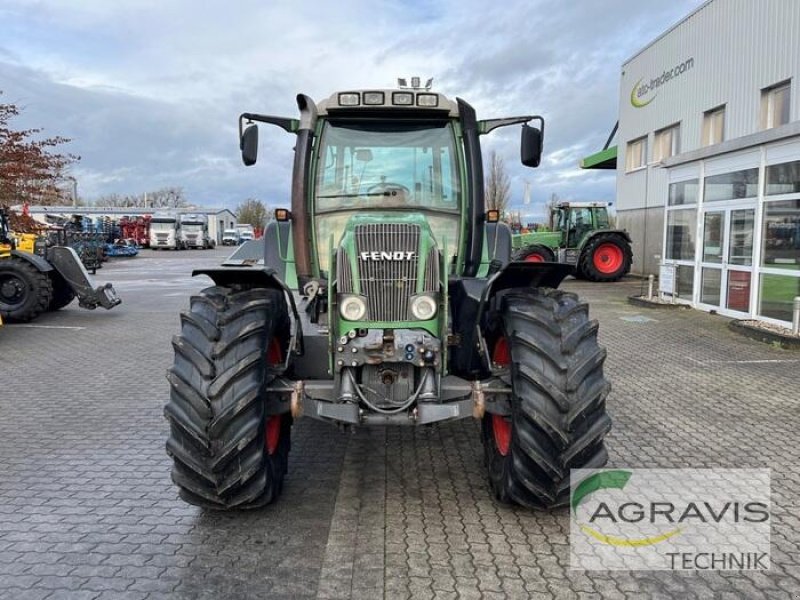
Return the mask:
{"type": "Polygon", "coordinates": [[[346,428],[476,418],[498,499],[567,503],[570,469],[607,459],[606,352],[587,305],[556,289],[569,265],[512,261],[509,228],[484,208],[480,147],[521,125],[522,164],[536,167],[543,119],[478,120],[420,88],[297,105],[297,119],[240,116],[245,165],[255,122],[295,136],[291,207],[263,242],[193,273],[214,285],[173,339],[165,414],[181,497],[274,501],[302,415],[346,428]]]}

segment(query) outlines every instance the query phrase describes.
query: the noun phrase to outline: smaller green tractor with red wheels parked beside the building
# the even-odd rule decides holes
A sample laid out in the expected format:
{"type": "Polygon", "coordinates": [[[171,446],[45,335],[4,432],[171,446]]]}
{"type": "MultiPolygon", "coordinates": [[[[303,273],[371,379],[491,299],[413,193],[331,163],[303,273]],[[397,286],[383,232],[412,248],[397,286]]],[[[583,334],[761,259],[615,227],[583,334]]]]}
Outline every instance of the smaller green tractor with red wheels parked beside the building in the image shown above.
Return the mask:
{"type": "Polygon", "coordinates": [[[591,281],[618,281],[631,270],[631,238],[611,229],[605,202],[561,202],[551,214],[553,231],[513,236],[514,259],[573,265],[574,275],[591,281]]]}

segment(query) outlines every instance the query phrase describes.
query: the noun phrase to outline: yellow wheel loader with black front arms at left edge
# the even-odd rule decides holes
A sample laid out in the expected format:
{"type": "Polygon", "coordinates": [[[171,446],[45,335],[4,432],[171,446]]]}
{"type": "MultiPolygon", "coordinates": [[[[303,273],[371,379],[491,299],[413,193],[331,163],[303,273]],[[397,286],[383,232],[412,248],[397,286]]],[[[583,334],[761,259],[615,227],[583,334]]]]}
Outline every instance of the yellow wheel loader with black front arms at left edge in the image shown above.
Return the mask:
{"type": "Polygon", "coordinates": [[[73,248],[48,246],[32,233],[13,234],[8,213],[0,209],[0,316],[30,321],[75,297],[88,309],[111,309],[121,302],[110,283],[95,287],[73,248]]]}

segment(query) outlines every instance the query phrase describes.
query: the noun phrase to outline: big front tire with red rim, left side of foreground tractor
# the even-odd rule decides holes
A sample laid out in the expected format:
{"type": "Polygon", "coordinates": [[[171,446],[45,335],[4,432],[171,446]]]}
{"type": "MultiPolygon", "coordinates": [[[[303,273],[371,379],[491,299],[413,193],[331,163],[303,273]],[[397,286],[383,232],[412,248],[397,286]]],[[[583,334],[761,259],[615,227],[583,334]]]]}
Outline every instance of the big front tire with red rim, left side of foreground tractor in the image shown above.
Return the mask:
{"type": "Polygon", "coordinates": [[[186,502],[246,509],[280,494],[291,416],[271,414],[265,388],[285,319],[282,294],[265,288],[207,288],[181,315],[164,412],[172,480],[186,502]]]}

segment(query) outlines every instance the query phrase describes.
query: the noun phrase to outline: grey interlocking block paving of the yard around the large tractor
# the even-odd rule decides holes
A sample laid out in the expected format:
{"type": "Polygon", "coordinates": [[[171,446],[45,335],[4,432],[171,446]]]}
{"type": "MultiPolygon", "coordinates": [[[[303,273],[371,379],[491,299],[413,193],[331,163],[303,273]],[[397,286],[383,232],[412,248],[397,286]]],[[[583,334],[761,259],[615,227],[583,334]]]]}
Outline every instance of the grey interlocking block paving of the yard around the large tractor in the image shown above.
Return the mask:
{"type": "Polygon", "coordinates": [[[592,302],[614,390],[611,464],[771,467],[772,570],[568,569],[565,511],[493,502],[474,422],[344,435],[301,421],[277,505],[204,514],[169,481],[178,312],[214,252],[98,272],[125,303],[0,330],[0,598],[798,598],[800,355],[697,312],[592,302]],[[640,317],[647,317],[641,319],[640,317]]]}

